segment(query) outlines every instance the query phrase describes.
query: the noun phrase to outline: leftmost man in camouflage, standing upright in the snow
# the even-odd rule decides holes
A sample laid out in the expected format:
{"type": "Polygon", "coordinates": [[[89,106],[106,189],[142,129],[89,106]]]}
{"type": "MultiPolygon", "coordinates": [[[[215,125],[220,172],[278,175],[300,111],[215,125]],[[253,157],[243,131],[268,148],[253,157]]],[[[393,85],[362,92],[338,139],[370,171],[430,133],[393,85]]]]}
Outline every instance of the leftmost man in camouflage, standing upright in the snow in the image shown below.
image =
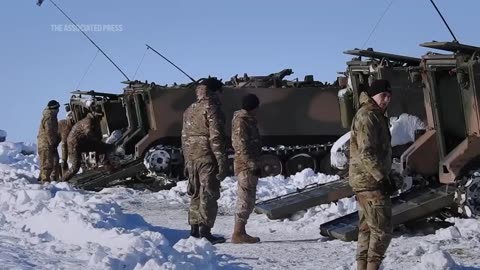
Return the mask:
{"type": "Polygon", "coordinates": [[[40,161],[41,182],[55,180],[53,175],[55,158],[58,159],[57,146],[60,142],[58,136],[58,108],[60,104],[56,100],[50,100],[47,108],[43,110],[42,120],[38,129],[37,144],[38,158],[40,161]]]}

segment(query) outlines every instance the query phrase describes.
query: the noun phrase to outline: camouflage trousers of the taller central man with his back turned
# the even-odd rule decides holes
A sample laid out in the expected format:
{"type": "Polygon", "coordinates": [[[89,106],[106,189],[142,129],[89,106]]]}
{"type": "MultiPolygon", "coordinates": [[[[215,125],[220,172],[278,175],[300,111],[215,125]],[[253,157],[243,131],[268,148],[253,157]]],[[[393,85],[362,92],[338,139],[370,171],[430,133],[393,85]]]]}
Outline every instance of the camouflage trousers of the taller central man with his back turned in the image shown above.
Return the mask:
{"type": "Polygon", "coordinates": [[[220,181],[216,177],[218,166],[210,160],[188,161],[185,166],[188,172],[187,192],[191,196],[188,223],[212,228],[217,218],[217,200],[220,198],[220,181]]]}

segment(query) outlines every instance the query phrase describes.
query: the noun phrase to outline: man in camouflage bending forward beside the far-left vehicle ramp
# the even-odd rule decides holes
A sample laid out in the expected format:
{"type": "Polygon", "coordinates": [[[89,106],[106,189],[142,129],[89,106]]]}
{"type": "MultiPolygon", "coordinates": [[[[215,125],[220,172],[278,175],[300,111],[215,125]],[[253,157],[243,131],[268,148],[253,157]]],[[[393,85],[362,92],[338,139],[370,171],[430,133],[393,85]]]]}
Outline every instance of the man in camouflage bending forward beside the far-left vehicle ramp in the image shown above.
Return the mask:
{"type": "Polygon", "coordinates": [[[89,112],[85,118],[73,125],[67,137],[68,159],[72,167],[63,176],[63,181],[70,180],[80,170],[82,153],[95,151],[97,154],[113,152],[113,145],[102,142],[100,120],[103,114],[89,112]]]}

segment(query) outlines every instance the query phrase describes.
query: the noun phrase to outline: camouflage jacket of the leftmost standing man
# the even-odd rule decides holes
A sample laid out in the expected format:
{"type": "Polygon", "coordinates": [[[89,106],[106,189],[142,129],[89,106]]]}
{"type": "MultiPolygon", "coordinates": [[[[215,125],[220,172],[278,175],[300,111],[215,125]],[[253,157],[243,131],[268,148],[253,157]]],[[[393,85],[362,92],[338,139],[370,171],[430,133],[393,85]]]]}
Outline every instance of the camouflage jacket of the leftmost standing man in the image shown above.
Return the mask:
{"type": "Polygon", "coordinates": [[[59,143],[57,112],[44,109],[37,135],[38,148],[56,148],[59,143]]]}

